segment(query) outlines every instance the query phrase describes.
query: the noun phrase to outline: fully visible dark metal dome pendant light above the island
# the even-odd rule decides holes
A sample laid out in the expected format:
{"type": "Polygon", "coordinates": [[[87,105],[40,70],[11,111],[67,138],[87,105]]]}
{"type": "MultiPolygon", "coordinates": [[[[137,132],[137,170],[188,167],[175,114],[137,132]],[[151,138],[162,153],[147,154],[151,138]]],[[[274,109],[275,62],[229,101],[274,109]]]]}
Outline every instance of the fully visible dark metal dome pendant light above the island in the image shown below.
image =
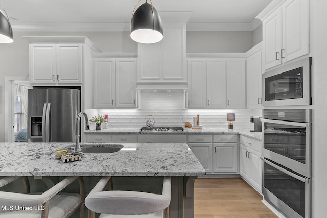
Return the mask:
{"type": "MultiPolygon", "coordinates": [[[[137,4],[140,2],[139,0],[137,4]]],[[[131,20],[131,38],[139,43],[156,43],[164,38],[162,22],[157,10],[151,4],[143,3],[136,11],[135,6],[131,20]],[[134,13],[135,11],[135,13],[134,13]]]]}

